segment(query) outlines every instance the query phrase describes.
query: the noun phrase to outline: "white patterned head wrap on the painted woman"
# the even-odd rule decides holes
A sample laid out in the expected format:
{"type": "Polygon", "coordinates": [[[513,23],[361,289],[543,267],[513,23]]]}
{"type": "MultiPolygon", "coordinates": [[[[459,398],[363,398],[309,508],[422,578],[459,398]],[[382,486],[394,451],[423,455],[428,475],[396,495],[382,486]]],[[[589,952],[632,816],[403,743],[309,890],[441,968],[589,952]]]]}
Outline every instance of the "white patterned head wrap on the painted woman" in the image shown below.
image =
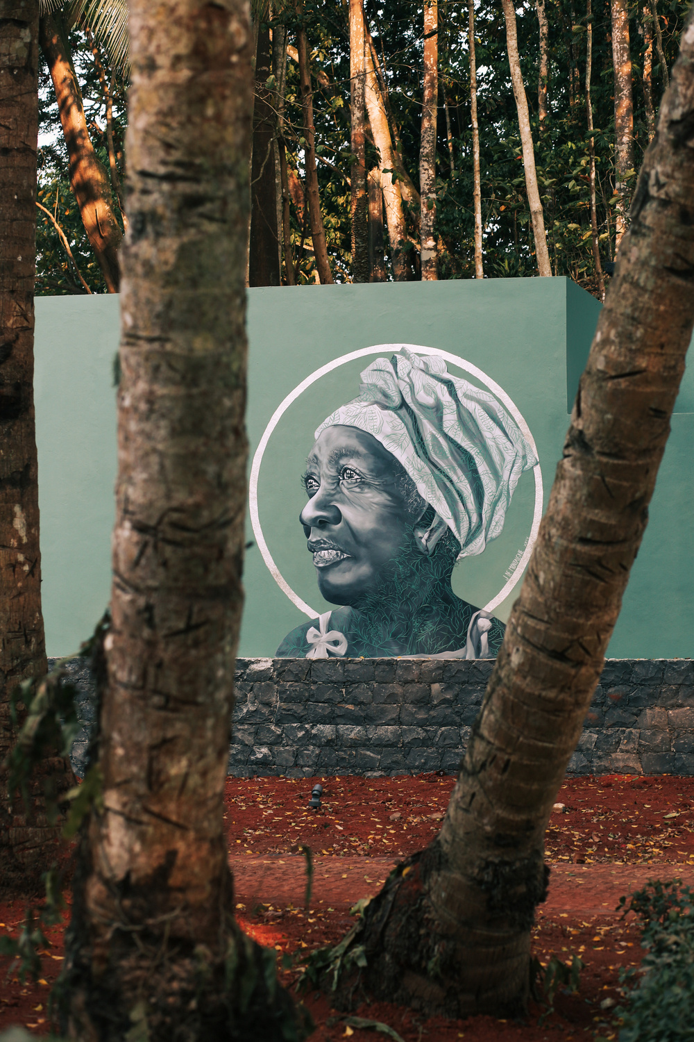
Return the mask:
{"type": "Polygon", "coordinates": [[[377,358],[361,380],[359,396],[329,416],[316,439],[337,425],[372,435],[451,528],[459,557],[482,553],[504,527],[521,473],[537,463],[516,421],[442,358],[406,347],[377,358]]]}

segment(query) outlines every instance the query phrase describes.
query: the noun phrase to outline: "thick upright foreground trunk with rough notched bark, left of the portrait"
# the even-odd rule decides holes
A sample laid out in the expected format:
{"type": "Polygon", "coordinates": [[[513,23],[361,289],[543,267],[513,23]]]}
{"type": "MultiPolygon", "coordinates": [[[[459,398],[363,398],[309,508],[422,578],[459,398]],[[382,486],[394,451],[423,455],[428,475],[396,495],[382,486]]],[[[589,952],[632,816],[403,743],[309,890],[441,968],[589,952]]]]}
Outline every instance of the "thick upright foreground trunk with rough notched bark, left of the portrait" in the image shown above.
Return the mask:
{"type": "Polygon", "coordinates": [[[102,782],[80,837],[62,1029],[280,1042],[293,1007],[275,952],[234,922],[223,821],[242,602],[248,4],[131,0],[129,26],[102,782]]]}

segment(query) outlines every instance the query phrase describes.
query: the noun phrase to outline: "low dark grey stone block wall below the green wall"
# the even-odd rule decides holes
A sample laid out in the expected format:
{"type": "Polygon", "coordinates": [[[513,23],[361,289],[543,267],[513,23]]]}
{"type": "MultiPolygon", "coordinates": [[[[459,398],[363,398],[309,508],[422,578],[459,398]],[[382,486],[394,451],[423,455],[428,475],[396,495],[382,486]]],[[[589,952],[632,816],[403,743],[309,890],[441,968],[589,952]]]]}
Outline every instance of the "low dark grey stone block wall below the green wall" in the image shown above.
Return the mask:
{"type": "MultiPolygon", "coordinates": [[[[437,659],[239,659],[229,773],[456,771],[492,663],[437,659]]],[[[94,715],[74,666],[84,761],[94,715]]],[[[612,659],[569,774],[694,774],[694,662],[612,659]]]]}

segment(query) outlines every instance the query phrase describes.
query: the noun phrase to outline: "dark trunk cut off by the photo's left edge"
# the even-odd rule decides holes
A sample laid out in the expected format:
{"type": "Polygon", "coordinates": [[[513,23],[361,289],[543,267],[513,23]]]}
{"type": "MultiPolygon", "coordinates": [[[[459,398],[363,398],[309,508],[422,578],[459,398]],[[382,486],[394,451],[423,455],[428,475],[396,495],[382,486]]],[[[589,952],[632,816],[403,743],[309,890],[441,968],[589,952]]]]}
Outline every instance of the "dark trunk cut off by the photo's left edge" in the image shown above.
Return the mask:
{"type": "MultiPolygon", "coordinates": [[[[3,762],[17,731],[9,698],[46,673],[41,611],[38,481],[33,411],[36,255],[38,2],[5,0],[0,19],[0,880],[3,897],[33,895],[56,860],[61,822],[48,823],[46,791],[73,784],[47,756],[30,785],[29,813],[10,808],[3,762]]],[[[18,706],[20,714],[23,706],[18,706]]],[[[17,794],[12,794],[15,796],[17,794]]]]}

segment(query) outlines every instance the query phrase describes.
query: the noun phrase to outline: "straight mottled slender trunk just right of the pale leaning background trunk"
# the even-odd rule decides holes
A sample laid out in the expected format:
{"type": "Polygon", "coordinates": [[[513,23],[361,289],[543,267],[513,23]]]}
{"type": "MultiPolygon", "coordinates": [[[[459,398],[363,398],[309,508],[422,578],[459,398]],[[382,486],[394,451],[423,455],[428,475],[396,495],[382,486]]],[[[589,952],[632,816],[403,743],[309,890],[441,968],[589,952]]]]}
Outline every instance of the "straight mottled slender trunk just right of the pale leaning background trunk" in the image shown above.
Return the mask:
{"type": "Polygon", "coordinates": [[[436,114],[438,108],[438,5],[425,0],[425,72],[419,145],[419,256],[422,281],[436,281],[436,114]]]}

